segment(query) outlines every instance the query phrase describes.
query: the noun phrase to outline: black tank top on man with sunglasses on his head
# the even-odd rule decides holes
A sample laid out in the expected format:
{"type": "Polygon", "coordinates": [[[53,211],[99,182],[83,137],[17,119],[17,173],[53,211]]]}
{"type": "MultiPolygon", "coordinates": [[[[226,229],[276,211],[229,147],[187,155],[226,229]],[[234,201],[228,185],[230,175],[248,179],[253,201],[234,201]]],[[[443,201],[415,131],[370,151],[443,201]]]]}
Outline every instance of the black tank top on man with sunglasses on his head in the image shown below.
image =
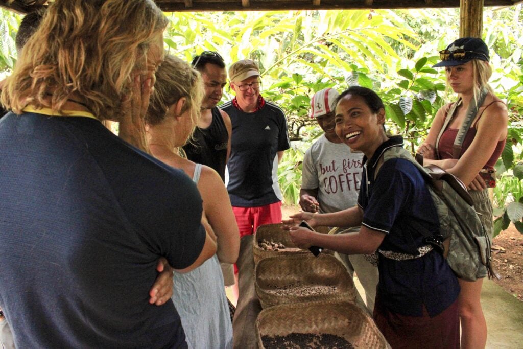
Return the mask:
{"type": "Polygon", "coordinates": [[[187,159],[214,168],[225,182],[225,161],[229,134],[223,123],[220,109],[211,109],[212,122],[206,129],[197,127],[191,143],[184,145],[187,159]]]}

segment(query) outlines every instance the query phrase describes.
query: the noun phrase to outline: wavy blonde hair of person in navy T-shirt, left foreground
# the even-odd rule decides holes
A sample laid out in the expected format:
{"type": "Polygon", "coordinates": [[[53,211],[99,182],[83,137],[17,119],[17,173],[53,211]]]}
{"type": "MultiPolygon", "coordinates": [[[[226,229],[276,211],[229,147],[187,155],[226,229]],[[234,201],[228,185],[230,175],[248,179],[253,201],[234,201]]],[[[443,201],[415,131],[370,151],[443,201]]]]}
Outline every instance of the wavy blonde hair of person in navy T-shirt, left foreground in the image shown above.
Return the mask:
{"type": "Polygon", "coordinates": [[[17,114],[27,105],[62,113],[76,94],[100,120],[118,120],[131,72],[145,69],[149,44],[166,26],[152,0],[56,0],[8,77],[2,104],[17,114]]]}

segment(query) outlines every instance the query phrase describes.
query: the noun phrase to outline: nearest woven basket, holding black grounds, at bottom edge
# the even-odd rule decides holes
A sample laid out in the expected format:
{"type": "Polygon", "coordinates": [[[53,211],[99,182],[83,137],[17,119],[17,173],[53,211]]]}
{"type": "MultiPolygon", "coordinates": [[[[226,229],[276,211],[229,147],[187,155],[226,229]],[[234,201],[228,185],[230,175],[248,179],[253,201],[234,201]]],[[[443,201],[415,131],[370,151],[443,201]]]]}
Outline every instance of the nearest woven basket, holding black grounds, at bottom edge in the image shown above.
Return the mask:
{"type": "Polygon", "coordinates": [[[264,309],[258,314],[256,334],[259,348],[264,348],[261,336],[290,333],[334,334],[356,348],[390,348],[374,321],[350,302],[286,304],[264,309]]]}

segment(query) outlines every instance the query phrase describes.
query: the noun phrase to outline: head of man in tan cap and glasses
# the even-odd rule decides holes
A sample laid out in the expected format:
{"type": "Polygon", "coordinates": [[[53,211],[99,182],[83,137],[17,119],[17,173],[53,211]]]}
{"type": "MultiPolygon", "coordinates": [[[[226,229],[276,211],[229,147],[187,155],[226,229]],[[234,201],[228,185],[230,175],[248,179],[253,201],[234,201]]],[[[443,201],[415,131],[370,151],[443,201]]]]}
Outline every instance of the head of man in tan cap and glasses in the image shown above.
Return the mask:
{"type": "Polygon", "coordinates": [[[238,103],[257,103],[261,84],[258,63],[249,59],[237,61],[229,68],[229,78],[238,103]]]}

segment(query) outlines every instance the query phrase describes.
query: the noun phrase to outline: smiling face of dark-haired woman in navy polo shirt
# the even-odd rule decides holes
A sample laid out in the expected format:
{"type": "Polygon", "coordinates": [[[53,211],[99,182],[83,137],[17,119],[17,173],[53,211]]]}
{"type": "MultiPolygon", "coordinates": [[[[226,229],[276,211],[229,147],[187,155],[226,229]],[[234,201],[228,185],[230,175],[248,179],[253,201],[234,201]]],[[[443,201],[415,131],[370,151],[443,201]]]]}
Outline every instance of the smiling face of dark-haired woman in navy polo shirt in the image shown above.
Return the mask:
{"type": "Polygon", "coordinates": [[[351,149],[371,157],[386,140],[383,132],[385,111],[373,112],[365,99],[358,95],[345,95],[336,106],[336,134],[351,149]]]}

